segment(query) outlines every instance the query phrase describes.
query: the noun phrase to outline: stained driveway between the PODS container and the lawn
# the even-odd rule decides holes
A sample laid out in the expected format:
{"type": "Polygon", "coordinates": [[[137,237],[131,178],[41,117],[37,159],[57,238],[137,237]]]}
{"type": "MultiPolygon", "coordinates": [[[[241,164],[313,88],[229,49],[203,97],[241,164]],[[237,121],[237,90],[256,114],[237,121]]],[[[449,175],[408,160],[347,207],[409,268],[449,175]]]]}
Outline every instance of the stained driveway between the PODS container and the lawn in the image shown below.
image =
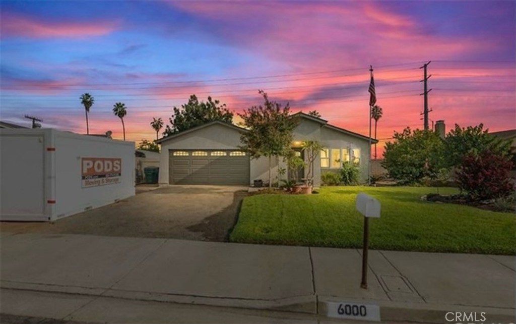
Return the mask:
{"type": "Polygon", "coordinates": [[[247,188],[234,186],[152,189],[141,188],[136,196],[55,223],[2,222],[0,230],[222,242],[227,241],[247,195],[247,188]]]}

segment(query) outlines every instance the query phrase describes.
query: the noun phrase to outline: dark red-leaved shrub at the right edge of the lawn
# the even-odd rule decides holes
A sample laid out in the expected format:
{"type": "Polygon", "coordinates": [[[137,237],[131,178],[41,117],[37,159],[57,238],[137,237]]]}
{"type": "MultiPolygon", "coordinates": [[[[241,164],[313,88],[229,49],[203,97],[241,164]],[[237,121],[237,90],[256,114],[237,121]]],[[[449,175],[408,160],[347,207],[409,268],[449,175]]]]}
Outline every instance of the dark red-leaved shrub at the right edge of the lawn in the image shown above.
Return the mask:
{"type": "Polygon", "coordinates": [[[457,169],[459,189],[473,199],[492,199],[506,196],[513,184],[509,177],[512,161],[491,150],[470,153],[457,169]]]}

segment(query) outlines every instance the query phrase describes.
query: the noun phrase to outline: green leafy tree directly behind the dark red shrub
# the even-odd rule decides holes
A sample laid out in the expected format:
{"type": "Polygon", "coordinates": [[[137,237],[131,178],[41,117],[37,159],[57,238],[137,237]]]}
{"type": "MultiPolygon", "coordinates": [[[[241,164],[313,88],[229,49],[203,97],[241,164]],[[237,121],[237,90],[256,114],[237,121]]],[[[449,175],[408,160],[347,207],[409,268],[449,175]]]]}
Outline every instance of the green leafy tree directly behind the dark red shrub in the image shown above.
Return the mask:
{"type": "Polygon", "coordinates": [[[478,155],[486,150],[507,157],[510,153],[510,141],[490,135],[487,129],[483,130],[482,124],[466,128],[455,124],[455,128],[446,134],[444,150],[446,166],[454,167],[460,165],[466,155],[478,155]]]}

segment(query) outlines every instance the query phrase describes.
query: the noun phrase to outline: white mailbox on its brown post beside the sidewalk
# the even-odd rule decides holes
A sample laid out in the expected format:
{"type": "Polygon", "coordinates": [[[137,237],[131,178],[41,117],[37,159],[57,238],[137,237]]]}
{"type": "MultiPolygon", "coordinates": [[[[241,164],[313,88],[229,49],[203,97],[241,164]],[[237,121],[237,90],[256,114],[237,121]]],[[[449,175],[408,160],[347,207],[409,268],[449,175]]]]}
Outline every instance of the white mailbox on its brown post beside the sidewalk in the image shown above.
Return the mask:
{"type": "Polygon", "coordinates": [[[369,218],[380,217],[380,202],[363,192],[357,195],[357,210],[364,215],[364,246],[362,251],[362,282],[360,287],[367,289],[367,251],[369,249],[369,218]]]}

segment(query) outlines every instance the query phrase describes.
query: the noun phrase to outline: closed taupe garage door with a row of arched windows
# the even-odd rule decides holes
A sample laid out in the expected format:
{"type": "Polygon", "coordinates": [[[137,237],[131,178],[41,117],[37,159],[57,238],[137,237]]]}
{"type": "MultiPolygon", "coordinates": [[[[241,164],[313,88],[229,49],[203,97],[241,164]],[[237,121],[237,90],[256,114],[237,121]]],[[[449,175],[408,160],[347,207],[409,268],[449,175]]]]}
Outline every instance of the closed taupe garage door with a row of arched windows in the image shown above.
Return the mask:
{"type": "Polygon", "coordinates": [[[240,150],[170,150],[169,183],[247,186],[249,156],[240,150]]]}

